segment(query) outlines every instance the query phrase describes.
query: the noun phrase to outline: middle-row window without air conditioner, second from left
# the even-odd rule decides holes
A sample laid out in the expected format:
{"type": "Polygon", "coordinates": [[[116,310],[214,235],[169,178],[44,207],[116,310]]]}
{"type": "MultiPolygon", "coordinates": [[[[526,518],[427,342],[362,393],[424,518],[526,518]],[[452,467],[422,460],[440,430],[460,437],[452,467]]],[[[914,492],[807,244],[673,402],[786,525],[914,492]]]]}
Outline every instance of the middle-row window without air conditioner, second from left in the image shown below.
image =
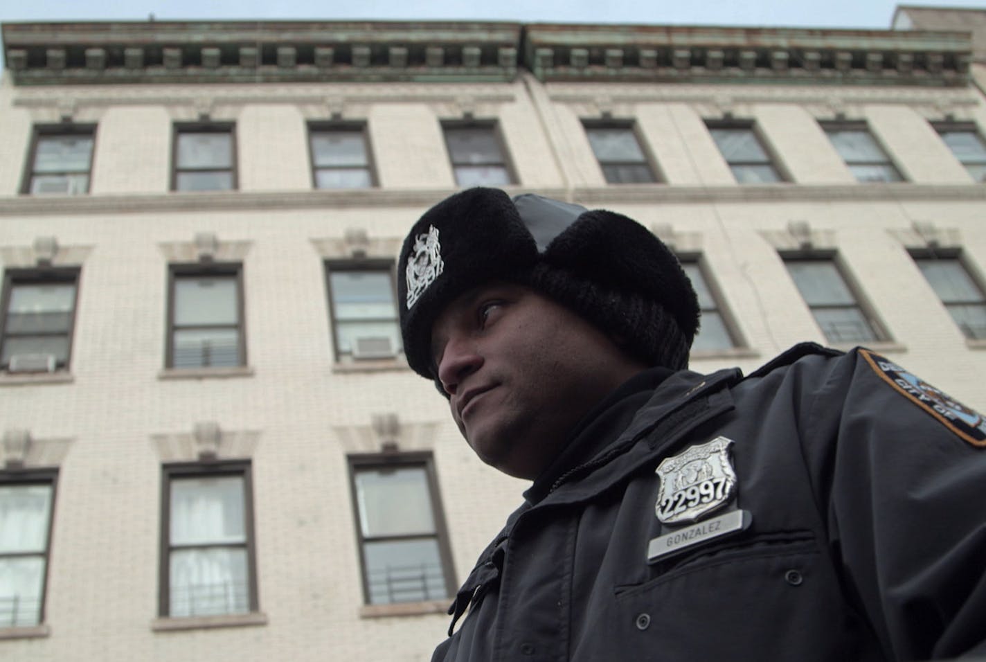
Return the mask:
{"type": "Polygon", "coordinates": [[[168,367],[246,365],[239,264],[173,266],[168,367]]]}

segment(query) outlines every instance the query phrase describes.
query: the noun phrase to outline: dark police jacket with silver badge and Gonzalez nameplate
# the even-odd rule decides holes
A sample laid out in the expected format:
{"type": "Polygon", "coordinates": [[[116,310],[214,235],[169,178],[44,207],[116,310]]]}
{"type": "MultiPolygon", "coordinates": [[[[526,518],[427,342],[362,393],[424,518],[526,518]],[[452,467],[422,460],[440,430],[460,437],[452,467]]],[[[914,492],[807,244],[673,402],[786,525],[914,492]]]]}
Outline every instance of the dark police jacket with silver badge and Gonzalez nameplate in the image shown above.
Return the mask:
{"type": "Polygon", "coordinates": [[[627,420],[511,515],[433,660],[986,653],[974,411],[805,344],[747,378],[675,373],[627,420]]]}

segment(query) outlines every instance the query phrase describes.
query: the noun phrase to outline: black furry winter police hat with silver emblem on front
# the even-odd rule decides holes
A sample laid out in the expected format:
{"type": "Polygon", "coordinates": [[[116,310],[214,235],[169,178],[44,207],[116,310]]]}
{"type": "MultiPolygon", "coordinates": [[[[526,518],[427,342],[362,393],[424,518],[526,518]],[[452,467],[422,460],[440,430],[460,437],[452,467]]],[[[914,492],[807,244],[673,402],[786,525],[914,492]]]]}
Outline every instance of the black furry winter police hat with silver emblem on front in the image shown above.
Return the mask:
{"type": "Polygon", "coordinates": [[[650,231],[611,211],[470,188],[425,212],[400,251],[400,332],[415,372],[437,380],[435,319],[489,280],[530,286],[615,335],[649,365],[688,365],[698,299],[677,258],[650,231]]]}

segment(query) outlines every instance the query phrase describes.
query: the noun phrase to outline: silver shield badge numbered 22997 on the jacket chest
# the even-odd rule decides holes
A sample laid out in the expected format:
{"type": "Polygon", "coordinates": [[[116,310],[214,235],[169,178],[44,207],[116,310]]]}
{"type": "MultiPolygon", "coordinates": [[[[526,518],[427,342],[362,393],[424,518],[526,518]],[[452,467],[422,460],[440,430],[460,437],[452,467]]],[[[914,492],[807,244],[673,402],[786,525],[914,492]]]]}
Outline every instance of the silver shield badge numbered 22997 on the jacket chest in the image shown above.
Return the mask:
{"type": "Polygon", "coordinates": [[[729,503],[737,487],[729,455],[732,444],[732,439],[716,437],[661,463],[655,509],[663,524],[694,522],[729,503]]]}

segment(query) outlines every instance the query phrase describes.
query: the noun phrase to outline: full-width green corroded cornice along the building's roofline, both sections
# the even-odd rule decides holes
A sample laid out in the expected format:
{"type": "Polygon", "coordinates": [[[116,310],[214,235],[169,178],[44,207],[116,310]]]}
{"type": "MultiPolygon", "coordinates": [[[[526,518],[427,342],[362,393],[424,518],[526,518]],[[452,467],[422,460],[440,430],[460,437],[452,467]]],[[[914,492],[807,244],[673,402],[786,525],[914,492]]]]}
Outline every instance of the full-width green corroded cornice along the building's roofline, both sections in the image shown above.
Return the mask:
{"type": "Polygon", "coordinates": [[[477,22],[12,23],[16,85],[542,81],[964,85],[952,32],[477,22]]]}

